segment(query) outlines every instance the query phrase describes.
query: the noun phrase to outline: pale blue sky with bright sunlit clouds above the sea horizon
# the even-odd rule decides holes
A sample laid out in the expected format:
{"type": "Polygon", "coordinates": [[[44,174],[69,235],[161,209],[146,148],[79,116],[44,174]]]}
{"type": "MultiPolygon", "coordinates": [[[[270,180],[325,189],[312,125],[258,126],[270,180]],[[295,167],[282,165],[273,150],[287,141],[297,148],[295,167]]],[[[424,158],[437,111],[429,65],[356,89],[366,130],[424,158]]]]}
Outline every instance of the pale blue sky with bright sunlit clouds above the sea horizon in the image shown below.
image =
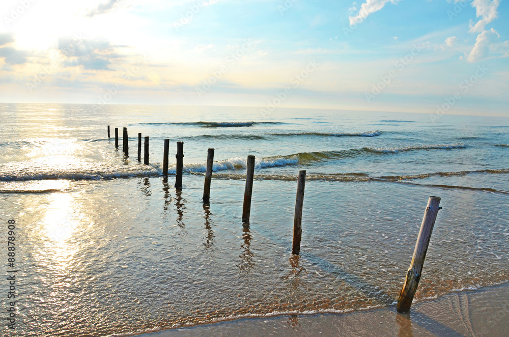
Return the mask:
{"type": "Polygon", "coordinates": [[[2,0],[0,102],[509,117],[502,0],[2,0]]]}

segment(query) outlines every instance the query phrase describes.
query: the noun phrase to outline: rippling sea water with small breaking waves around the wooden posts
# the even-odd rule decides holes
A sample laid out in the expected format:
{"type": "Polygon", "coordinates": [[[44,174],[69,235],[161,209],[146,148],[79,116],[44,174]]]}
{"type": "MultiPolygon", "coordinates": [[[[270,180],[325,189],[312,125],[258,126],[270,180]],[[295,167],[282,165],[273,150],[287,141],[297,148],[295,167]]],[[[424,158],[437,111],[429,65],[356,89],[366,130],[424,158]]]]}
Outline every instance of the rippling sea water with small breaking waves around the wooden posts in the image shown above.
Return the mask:
{"type": "Polygon", "coordinates": [[[16,221],[13,335],[121,336],[393,304],[430,195],[443,209],[416,300],[509,280],[508,118],[5,103],[0,116],[5,238],[16,221]],[[129,157],[107,125],[112,137],[127,127],[129,157]],[[138,132],[150,137],[148,166],[137,162],[138,132]],[[245,226],[247,155],[256,170],[245,226]],[[299,170],[302,248],[292,256],[299,170]]]}

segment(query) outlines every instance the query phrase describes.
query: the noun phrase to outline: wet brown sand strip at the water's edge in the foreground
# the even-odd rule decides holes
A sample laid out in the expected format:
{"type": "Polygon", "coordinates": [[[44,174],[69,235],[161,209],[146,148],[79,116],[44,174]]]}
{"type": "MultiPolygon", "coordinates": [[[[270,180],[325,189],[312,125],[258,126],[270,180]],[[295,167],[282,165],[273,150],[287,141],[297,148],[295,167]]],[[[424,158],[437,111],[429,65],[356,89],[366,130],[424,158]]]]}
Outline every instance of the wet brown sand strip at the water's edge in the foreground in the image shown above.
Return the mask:
{"type": "Polygon", "coordinates": [[[244,318],[153,333],[180,336],[509,336],[509,284],[453,292],[412,305],[409,315],[395,306],[346,314],[244,318]]]}

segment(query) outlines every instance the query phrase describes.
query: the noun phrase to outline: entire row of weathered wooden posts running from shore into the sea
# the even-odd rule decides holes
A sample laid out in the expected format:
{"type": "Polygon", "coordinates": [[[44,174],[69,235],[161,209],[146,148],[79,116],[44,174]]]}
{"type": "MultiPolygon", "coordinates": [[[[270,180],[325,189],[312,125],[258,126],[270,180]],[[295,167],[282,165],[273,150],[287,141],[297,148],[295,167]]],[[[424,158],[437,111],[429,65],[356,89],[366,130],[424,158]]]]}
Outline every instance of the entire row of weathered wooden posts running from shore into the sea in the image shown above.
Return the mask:
{"type": "MultiPolygon", "coordinates": [[[[108,125],[108,139],[110,138],[110,128],[108,125]]],[[[129,144],[127,128],[123,130],[123,146],[122,151],[125,156],[129,156],[129,144]]],[[[115,147],[119,147],[119,128],[115,128],[115,147]]],[[[149,137],[145,137],[144,146],[144,164],[149,164],[149,137]]],[[[168,153],[169,153],[169,139],[164,139],[164,156],[163,156],[163,170],[162,174],[164,177],[168,176],[168,153]]],[[[142,155],[142,134],[138,133],[138,161],[141,162],[142,155]]],[[[175,179],[175,188],[182,188],[182,170],[183,170],[183,158],[184,158],[184,143],[177,142],[177,172],[175,179]]],[[[212,164],[214,162],[214,149],[208,149],[207,153],[207,168],[205,173],[205,183],[203,188],[203,201],[209,203],[210,201],[210,183],[212,180],[212,164]]],[[[242,222],[249,223],[249,217],[251,213],[251,196],[253,188],[254,178],[254,156],[247,156],[247,168],[246,168],[246,185],[244,189],[244,204],[242,207],[242,222]]],[[[299,171],[297,181],[297,195],[295,198],[295,213],[293,223],[293,243],[292,243],[292,254],[298,255],[300,253],[300,242],[302,238],[302,209],[304,205],[304,187],[306,181],[306,171],[299,171]]],[[[440,198],[438,196],[430,196],[428,205],[426,207],[422,223],[420,226],[419,235],[415,244],[412,262],[410,268],[407,271],[405,283],[398,299],[397,310],[399,313],[410,312],[410,306],[414,298],[419,280],[422,275],[422,267],[426,259],[426,252],[430,244],[431,233],[435,226],[435,220],[437,218],[438,211],[442,209],[440,207],[440,198]]]]}

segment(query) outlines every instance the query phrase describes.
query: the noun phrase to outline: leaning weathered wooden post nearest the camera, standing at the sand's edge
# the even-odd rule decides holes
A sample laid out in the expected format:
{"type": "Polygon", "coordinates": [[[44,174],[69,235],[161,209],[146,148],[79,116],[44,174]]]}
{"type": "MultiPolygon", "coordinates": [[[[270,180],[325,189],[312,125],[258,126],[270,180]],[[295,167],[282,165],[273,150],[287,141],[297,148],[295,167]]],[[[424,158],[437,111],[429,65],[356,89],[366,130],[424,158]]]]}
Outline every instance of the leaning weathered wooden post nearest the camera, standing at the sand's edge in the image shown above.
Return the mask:
{"type": "Polygon", "coordinates": [[[431,233],[433,232],[433,226],[435,226],[438,210],[442,209],[439,206],[440,198],[437,196],[430,196],[428,207],[424,212],[424,217],[420,225],[419,236],[415,243],[412,262],[410,263],[410,268],[408,268],[405,284],[403,285],[400,298],[398,299],[397,308],[399,313],[408,313],[410,311],[415,291],[419,285],[422,267],[426,259],[426,252],[428,251],[428,245],[430,244],[431,233]]]}

